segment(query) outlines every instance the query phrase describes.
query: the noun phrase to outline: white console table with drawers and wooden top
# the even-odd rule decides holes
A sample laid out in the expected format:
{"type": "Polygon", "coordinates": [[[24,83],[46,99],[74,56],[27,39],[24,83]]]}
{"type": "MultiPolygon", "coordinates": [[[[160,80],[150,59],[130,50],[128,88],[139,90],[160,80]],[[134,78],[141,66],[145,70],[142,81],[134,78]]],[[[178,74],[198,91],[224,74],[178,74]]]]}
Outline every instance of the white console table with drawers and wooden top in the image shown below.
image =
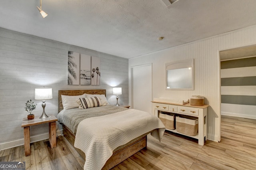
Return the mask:
{"type": "MultiPolygon", "coordinates": [[[[190,103],[185,105],[179,105],[174,103],[164,103],[152,101],[152,111],[155,116],[159,117],[159,113],[161,111],[176,113],[179,115],[188,115],[193,117],[198,117],[198,134],[196,136],[189,136],[191,138],[198,139],[199,145],[204,145],[204,141],[207,140],[207,107],[209,105],[203,106],[192,106],[190,103]]],[[[178,134],[182,134],[177,132],[177,130],[166,129],[178,134]]],[[[182,134],[185,135],[185,134],[182,134]]],[[[185,135],[188,136],[188,135],[185,135]]]]}

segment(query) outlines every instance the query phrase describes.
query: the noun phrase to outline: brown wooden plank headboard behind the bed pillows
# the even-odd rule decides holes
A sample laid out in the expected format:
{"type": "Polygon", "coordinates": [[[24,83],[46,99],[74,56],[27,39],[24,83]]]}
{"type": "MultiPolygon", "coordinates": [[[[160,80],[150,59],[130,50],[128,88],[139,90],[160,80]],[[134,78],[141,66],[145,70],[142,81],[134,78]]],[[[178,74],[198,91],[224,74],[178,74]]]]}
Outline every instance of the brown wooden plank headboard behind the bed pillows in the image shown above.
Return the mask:
{"type": "Polygon", "coordinates": [[[91,94],[91,95],[105,95],[106,96],[106,89],[96,89],[96,90],[59,90],[58,95],[58,112],[63,110],[61,95],[68,95],[68,96],[77,96],[91,94]]]}

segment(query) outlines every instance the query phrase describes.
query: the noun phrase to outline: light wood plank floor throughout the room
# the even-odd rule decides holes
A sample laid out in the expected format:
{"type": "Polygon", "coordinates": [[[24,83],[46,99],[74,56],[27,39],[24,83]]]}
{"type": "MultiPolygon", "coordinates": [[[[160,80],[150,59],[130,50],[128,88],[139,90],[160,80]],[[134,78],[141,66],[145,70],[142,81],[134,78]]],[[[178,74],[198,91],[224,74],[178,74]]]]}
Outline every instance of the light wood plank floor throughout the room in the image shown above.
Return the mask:
{"type": "MultiPolygon", "coordinates": [[[[82,170],[84,165],[63,136],[54,149],[47,140],[32,143],[27,157],[24,145],[2,150],[0,161],[26,161],[26,169],[32,170],[82,170]]],[[[207,140],[204,146],[169,133],[164,133],[161,143],[148,135],[147,148],[112,169],[255,170],[256,120],[222,116],[221,142],[207,140]]]]}

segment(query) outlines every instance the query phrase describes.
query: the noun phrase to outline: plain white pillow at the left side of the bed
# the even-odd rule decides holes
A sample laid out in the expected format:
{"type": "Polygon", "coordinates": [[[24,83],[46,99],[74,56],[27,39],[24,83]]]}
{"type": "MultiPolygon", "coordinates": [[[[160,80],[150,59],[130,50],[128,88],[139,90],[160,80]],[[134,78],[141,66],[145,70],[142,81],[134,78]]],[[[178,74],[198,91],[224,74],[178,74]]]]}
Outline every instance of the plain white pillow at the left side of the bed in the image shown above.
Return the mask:
{"type": "Polygon", "coordinates": [[[76,102],[78,98],[86,97],[86,94],[83,95],[77,95],[77,96],[67,96],[67,95],[61,95],[61,100],[62,100],[62,105],[63,109],[73,109],[73,108],[78,108],[79,105],[76,102]]]}

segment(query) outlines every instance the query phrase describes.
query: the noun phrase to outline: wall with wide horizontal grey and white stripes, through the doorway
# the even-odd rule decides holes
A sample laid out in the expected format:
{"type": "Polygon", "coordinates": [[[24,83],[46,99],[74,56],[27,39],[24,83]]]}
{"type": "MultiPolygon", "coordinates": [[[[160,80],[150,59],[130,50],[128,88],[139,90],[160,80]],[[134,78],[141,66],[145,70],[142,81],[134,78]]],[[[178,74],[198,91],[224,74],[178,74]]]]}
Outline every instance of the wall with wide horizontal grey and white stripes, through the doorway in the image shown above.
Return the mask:
{"type": "Polygon", "coordinates": [[[256,119],[256,57],[220,62],[221,114],[256,119]]]}

